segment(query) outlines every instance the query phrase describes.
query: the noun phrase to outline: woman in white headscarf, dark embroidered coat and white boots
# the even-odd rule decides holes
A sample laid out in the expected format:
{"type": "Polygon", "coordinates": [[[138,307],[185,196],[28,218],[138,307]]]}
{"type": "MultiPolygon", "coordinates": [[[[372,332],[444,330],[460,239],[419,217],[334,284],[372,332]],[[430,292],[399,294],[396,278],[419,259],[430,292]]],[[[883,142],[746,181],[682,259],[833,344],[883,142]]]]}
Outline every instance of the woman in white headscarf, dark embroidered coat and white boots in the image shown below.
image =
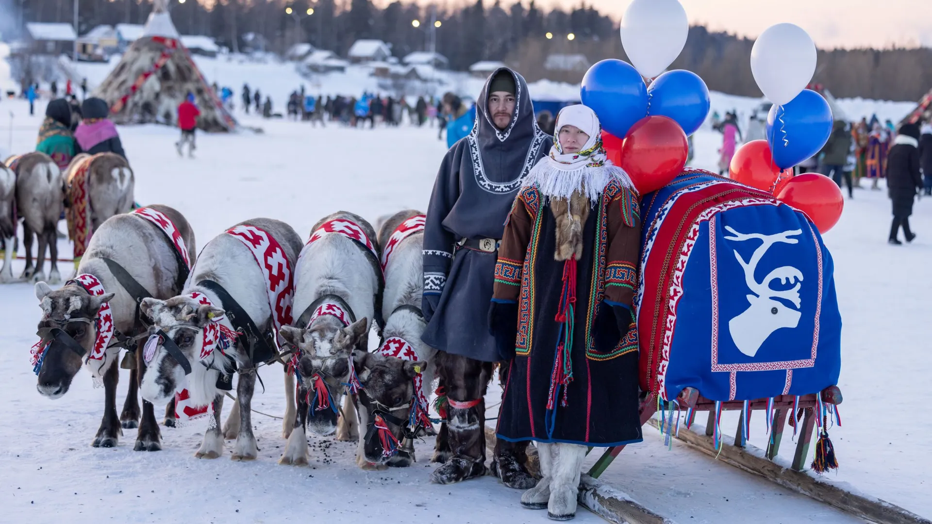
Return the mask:
{"type": "Polygon", "coordinates": [[[596,114],[565,107],[550,156],[509,215],[489,309],[500,350],[514,352],[498,437],[537,442],[543,478],[521,503],[554,519],[575,515],[587,446],[641,440],[637,213],[637,192],[606,159],[596,114]]]}

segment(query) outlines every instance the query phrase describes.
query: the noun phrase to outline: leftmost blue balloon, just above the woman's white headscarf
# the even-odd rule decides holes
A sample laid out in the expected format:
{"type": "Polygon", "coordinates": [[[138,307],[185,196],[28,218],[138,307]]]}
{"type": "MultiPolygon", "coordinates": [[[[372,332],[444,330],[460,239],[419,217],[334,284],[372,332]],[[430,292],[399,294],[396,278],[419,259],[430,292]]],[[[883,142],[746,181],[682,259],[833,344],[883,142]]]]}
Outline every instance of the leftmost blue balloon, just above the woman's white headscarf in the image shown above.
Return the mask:
{"type": "Polygon", "coordinates": [[[624,138],[631,126],[647,115],[647,86],[628,62],[596,62],[583,76],[583,104],[596,112],[602,129],[624,138]]]}

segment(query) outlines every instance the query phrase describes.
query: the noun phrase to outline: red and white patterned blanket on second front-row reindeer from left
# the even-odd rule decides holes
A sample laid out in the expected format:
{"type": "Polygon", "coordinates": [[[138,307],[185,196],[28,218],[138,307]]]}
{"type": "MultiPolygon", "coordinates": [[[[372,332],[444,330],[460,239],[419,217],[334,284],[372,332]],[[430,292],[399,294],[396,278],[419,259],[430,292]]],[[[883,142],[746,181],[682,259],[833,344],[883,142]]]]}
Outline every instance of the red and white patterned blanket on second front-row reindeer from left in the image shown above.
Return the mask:
{"type": "Polygon", "coordinates": [[[268,307],[272,310],[272,324],[279,349],[284,340],[279,334],[282,325],[292,323],[292,299],[295,293],[295,274],[281,245],[266,231],[254,226],[237,226],[226,230],[249,248],[255,262],[266,277],[268,307]]]}

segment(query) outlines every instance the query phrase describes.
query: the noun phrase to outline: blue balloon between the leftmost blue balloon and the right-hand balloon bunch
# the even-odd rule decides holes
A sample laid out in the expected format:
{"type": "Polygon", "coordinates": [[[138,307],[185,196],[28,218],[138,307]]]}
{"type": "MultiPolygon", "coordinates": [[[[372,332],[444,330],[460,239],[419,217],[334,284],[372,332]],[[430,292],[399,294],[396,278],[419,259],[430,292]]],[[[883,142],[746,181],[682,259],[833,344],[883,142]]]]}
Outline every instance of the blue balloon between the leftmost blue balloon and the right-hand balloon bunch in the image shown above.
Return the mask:
{"type": "Polygon", "coordinates": [[[711,101],[706,82],[692,71],[667,71],[648,88],[648,115],[676,120],[687,135],[702,126],[711,101]]]}

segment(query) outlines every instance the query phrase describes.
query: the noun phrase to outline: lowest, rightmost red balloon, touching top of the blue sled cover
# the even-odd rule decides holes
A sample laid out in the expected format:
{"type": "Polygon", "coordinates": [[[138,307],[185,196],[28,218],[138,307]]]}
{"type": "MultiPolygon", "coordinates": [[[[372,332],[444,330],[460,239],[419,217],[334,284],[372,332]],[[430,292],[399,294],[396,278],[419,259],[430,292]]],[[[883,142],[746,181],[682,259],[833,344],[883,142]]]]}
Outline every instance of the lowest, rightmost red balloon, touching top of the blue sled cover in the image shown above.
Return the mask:
{"type": "Polygon", "coordinates": [[[776,199],[806,214],[820,233],[828,232],[838,223],[844,208],[842,189],[817,172],[803,172],[790,178],[776,199]]]}

